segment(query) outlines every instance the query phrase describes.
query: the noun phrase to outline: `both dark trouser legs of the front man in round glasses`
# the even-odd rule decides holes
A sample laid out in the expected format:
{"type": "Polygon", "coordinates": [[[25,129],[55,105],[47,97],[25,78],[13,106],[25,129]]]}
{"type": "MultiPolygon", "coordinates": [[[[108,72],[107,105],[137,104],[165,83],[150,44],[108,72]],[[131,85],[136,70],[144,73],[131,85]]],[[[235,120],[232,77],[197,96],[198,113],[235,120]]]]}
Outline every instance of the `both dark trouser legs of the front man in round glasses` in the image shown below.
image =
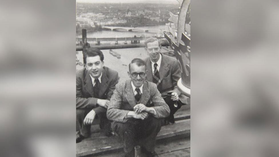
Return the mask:
{"type": "Polygon", "coordinates": [[[113,131],[124,142],[124,152],[134,150],[136,145],[144,147],[147,151],[153,151],[156,145],[156,136],[161,129],[164,120],[151,115],[147,119],[130,118],[127,122],[113,122],[113,131]]]}

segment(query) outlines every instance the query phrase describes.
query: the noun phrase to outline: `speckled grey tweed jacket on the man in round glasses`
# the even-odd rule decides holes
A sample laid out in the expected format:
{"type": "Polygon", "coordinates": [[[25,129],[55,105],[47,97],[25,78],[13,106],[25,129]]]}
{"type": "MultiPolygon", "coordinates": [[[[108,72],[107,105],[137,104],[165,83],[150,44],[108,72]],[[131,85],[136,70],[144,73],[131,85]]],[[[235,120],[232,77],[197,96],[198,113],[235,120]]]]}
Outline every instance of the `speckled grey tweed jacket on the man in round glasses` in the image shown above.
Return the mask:
{"type": "MultiPolygon", "coordinates": [[[[170,115],[170,108],[161,97],[156,84],[145,81],[142,88],[141,104],[153,107],[157,112],[156,118],[165,118],[170,115]]],[[[107,118],[117,122],[126,122],[125,118],[129,111],[133,111],[136,105],[131,80],[126,80],[116,85],[113,95],[107,108],[107,118]]]]}

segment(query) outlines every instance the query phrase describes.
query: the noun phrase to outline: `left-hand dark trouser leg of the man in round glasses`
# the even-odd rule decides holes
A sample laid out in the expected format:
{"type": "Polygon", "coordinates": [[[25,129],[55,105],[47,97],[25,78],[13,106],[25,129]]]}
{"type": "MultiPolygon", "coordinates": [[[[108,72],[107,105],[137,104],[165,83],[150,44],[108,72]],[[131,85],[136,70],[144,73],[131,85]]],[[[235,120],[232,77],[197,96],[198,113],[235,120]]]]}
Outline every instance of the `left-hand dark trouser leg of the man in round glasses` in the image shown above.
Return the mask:
{"type": "Polygon", "coordinates": [[[136,143],[136,123],[131,120],[125,123],[113,122],[112,128],[124,142],[124,152],[128,153],[133,151],[136,143]]]}

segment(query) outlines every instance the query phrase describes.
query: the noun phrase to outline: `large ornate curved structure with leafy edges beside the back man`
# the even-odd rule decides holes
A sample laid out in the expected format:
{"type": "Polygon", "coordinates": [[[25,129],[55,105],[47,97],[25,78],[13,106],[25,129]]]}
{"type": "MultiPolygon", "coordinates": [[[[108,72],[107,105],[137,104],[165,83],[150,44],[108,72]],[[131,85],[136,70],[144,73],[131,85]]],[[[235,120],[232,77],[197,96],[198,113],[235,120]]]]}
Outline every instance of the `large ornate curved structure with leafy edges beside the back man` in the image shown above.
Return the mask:
{"type": "Polygon", "coordinates": [[[169,18],[176,28],[169,27],[170,31],[164,32],[164,35],[180,63],[181,82],[185,87],[190,88],[190,0],[178,0],[178,2],[180,4],[178,15],[170,13],[169,18]]]}

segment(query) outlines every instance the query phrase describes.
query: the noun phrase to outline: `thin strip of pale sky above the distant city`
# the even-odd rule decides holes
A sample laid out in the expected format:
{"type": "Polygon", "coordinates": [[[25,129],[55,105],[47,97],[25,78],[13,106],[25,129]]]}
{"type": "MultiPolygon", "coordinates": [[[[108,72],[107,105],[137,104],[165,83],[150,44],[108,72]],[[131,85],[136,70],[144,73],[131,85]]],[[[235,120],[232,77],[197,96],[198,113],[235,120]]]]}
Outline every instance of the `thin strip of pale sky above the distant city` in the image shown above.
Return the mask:
{"type": "Polygon", "coordinates": [[[76,0],[81,3],[178,3],[176,0],[76,0]]]}

